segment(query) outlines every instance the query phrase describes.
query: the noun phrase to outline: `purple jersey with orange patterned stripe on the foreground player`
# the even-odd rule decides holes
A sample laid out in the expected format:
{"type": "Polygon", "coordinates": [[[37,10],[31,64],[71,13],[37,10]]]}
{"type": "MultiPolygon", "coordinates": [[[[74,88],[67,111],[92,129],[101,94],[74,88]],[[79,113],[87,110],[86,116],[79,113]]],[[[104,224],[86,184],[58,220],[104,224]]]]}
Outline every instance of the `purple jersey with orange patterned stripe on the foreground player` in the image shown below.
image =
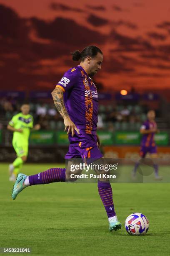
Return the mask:
{"type": "Polygon", "coordinates": [[[92,79],[78,65],[69,69],[56,87],[62,87],[65,108],[80,133],[96,134],[98,95],[92,79]]]}

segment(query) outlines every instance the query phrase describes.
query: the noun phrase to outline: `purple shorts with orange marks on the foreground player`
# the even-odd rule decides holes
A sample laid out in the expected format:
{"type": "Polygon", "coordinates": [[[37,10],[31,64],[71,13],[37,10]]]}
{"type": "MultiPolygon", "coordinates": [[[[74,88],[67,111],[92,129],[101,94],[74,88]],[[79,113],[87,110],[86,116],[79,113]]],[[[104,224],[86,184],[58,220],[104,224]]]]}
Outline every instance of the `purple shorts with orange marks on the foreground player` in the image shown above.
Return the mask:
{"type": "Polygon", "coordinates": [[[69,135],[69,151],[65,159],[81,158],[85,163],[93,162],[103,155],[97,147],[97,136],[92,134],[69,135]]]}

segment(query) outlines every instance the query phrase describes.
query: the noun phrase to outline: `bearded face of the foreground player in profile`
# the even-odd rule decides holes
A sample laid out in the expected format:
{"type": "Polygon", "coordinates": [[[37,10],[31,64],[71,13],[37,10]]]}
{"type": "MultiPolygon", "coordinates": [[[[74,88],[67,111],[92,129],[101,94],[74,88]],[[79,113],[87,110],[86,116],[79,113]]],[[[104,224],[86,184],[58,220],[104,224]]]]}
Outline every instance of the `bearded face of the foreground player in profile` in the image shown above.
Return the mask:
{"type": "Polygon", "coordinates": [[[93,77],[101,69],[103,56],[98,52],[94,58],[89,58],[87,61],[89,64],[89,76],[93,77]]]}

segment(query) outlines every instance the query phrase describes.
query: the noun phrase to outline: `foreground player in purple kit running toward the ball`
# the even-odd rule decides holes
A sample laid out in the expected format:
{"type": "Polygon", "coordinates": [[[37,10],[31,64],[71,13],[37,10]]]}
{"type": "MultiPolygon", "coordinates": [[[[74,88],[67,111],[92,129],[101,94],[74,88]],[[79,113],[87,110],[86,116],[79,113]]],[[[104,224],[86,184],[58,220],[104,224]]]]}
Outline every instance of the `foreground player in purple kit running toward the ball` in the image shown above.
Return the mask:
{"type": "MultiPolygon", "coordinates": [[[[65,131],[67,131],[70,141],[69,151],[65,156],[67,169],[51,168],[31,176],[18,174],[12,190],[13,200],[25,187],[70,181],[72,159],[81,158],[85,163],[90,158],[95,159],[95,163],[103,160],[98,147],[100,141],[96,133],[97,88],[90,78],[101,69],[103,54],[98,47],[87,46],[82,52],[74,51],[72,59],[74,61],[80,60],[80,64],[69,69],[52,92],[54,104],[63,117],[65,131]]],[[[95,171],[97,174],[103,172],[101,170],[95,171]]],[[[108,216],[109,230],[121,228],[114,209],[109,179],[101,178],[98,180],[98,192],[108,216]]]]}

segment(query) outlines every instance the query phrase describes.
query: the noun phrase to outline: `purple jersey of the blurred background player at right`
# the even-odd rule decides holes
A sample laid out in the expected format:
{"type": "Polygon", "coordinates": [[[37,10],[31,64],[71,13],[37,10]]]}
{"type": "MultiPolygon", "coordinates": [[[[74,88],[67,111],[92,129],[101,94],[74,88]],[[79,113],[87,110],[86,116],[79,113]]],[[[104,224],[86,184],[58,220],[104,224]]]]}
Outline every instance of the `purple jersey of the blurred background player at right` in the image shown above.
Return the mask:
{"type": "MultiPolygon", "coordinates": [[[[155,121],[150,122],[149,120],[146,120],[143,123],[143,125],[141,126],[141,129],[145,129],[145,130],[150,130],[152,128],[157,128],[157,124],[155,123],[155,121]]],[[[142,141],[141,141],[141,146],[155,147],[154,135],[155,135],[155,133],[143,134],[142,141]]]]}

